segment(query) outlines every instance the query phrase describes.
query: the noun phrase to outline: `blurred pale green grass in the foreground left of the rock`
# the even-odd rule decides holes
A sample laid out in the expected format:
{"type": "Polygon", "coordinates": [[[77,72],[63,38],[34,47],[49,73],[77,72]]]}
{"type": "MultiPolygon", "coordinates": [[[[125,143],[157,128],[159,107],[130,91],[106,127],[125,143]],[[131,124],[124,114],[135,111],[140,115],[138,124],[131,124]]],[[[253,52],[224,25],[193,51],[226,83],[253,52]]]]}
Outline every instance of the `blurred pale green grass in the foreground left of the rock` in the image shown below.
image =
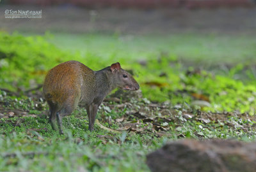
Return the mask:
{"type": "Polygon", "coordinates": [[[79,168],[90,171],[148,171],[147,166],[141,162],[152,146],[148,145],[145,150],[145,147],[133,141],[134,138],[130,143],[122,145],[116,141],[105,145],[93,133],[84,134],[82,138],[73,137],[71,133],[62,138],[57,135],[49,138],[38,135],[40,134],[13,133],[2,136],[1,152],[12,152],[17,156],[1,157],[1,171],[71,171],[79,168]],[[35,152],[35,155],[32,158],[26,156],[28,152],[35,152]]]}

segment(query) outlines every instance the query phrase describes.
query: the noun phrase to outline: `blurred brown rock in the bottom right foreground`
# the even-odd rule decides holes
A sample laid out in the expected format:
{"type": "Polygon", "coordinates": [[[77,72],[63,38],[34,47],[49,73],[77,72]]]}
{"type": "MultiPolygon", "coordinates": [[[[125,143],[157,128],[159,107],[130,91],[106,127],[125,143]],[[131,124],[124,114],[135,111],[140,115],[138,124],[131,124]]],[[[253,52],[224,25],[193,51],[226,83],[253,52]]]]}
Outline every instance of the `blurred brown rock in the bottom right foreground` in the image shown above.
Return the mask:
{"type": "Polygon", "coordinates": [[[254,172],[256,143],[234,140],[180,140],[147,155],[157,172],[254,172]]]}

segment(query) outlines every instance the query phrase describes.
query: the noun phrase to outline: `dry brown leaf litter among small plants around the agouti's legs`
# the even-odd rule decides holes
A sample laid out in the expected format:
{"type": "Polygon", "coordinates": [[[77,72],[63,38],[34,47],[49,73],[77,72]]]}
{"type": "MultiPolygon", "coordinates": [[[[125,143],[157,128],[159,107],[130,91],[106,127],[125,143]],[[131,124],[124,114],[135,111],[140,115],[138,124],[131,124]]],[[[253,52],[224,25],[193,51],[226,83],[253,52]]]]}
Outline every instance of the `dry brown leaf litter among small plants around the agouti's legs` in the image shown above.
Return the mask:
{"type": "MultiPolygon", "coordinates": [[[[100,106],[96,124],[109,133],[109,136],[97,136],[102,143],[118,140],[121,144],[122,141],[120,138],[115,138],[115,134],[122,133],[148,134],[157,138],[211,138],[216,136],[211,135],[210,131],[216,129],[221,131],[226,128],[237,132],[242,130],[250,136],[255,133],[256,117],[248,113],[237,111],[212,113],[184,106],[184,104],[173,106],[168,102],[152,103],[142,98],[140,91],[131,94],[132,96],[129,92],[118,90],[100,106]],[[205,131],[209,131],[210,134],[205,134],[205,131]]],[[[79,106],[77,111],[75,117],[87,120],[83,106],[79,106]]],[[[48,114],[42,97],[22,97],[17,101],[8,96],[0,101],[0,113],[0,118],[5,118],[0,121],[0,124],[8,123],[15,127],[24,124],[24,117],[47,118],[48,114]]],[[[74,127],[73,124],[72,126],[74,127]]],[[[49,129],[28,128],[27,131],[40,133],[47,132],[49,129]]]]}

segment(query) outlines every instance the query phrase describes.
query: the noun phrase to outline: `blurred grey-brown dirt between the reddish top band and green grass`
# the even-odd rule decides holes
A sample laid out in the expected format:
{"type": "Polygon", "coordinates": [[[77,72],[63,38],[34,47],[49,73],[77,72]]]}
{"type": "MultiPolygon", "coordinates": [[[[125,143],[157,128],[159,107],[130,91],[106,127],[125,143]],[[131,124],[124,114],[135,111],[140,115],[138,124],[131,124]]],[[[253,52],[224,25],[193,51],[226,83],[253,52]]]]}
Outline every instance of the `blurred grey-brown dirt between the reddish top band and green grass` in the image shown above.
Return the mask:
{"type": "Polygon", "coordinates": [[[13,32],[256,33],[256,8],[215,10],[89,10],[74,6],[0,6],[0,29],[13,32]],[[5,18],[5,10],[42,10],[42,18],[5,18]]]}

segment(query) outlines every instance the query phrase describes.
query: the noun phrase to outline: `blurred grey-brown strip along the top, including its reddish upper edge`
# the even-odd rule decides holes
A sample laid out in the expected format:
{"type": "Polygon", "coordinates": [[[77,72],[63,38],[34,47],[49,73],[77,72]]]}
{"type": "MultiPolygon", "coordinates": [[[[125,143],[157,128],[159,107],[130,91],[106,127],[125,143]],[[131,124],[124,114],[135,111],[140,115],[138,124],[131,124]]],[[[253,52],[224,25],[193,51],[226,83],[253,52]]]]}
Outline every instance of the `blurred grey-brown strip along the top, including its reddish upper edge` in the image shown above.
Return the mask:
{"type": "Polygon", "coordinates": [[[42,10],[40,20],[4,20],[4,30],[37,32],[255,32],[253,0],[2,0],[1,11],[42,10]]]}

